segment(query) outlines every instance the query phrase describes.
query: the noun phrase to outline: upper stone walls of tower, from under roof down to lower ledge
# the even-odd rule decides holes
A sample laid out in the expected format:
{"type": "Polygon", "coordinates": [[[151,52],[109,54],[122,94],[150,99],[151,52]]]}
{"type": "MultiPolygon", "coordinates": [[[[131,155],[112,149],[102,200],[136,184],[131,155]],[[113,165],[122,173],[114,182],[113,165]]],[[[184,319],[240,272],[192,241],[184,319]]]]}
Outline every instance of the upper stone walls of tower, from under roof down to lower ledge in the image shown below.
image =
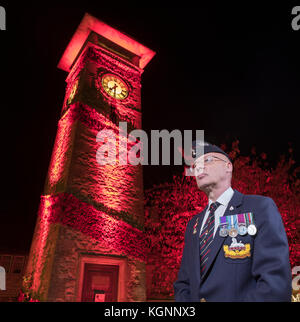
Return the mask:
{"type": "Polygon", "coordinates": [[[81,199],[104,205],[116,212],[124,212],[126,209],[128,216],[141,225],[141,167],[118,164],[100,166],[95,157],[99,147],[99,143],[96,142],[98,131],[109,129],[118,136],[119,121],[128,122],[128,132],[141,127],[140,71],[112,56],[91,46],[68,77],[64,114],[59,121],[55,142],[57,153],[53,154],[51,160],[45,194],[60,191],[80,194],[81,199]],[[125,102],[112,100],[102,92],[98,79],[102,73],[109,72],[121,76],[130,85],[131,94],[125,102]],[[78,92],[73,101],[67,104],[70,89],[76,82],[78,92]],[[117,115],[115,122],[110,118],[111,106],[117,115]]]}

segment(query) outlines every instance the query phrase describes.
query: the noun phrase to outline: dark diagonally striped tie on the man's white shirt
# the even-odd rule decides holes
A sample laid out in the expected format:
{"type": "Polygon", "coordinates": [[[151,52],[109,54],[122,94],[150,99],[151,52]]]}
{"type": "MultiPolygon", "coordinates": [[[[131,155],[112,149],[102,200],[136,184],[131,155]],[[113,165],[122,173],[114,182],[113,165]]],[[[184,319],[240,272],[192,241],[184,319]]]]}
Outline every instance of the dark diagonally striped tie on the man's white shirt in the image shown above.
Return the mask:
{"type": "Polygon", "coordinates": [[[204,273],[208,254],[210,252],[210,245],[214,239],[214,229],[215,229],[215,211],[220,206],[220,203],[214,202],[209,207],[209,215],[203,226],[200,235],[200,272],[201,275],[204,273]]]}

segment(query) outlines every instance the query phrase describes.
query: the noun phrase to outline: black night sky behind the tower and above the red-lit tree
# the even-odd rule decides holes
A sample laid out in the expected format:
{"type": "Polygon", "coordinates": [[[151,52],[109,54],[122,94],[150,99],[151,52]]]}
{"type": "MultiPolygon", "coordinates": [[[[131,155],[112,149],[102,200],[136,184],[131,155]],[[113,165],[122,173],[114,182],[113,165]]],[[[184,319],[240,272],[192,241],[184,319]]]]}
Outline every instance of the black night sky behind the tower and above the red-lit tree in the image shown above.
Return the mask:
{"type": "MultiPolygon", "coordinates": [[[[147,133],[205,130],[216,144],[239,139],[242,154],[255,146],[271,164],[291,144],[299,160],[293,5],[81,3],[0,4],[7,14],[0,31],[0,250],[30,247],[64,98],[67,74],[57,63],[85,12],[156,51],[142,77],[147,133]]],[[[145,188],[181,171],[147,166],[145,188]]]]}

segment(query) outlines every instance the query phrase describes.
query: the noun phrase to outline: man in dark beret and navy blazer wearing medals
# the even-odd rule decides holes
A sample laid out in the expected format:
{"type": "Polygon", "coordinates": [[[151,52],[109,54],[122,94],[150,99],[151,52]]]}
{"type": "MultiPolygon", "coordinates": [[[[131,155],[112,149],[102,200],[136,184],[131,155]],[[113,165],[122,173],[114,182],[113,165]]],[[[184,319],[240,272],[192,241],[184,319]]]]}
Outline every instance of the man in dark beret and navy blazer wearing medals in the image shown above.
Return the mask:
{"type": "Polygon", "coordinates": [[[208,205],[187,224],[176,301],[290,301],[289,246],[274,201],[233,190],[229,156],[203,148],[192,168],[208,205]]]}

